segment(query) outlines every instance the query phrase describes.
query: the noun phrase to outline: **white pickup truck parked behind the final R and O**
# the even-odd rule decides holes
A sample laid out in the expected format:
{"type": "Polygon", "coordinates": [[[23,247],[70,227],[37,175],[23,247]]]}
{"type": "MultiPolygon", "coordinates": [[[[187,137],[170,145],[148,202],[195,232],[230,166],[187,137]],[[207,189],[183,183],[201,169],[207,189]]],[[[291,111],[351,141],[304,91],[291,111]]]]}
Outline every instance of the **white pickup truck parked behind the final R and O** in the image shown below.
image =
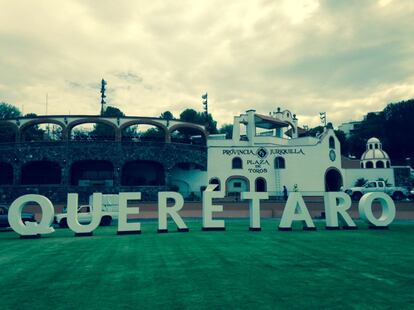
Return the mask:
{"type": "Polygon", "coordinates": [[[362,195],[371,192],[386,193],[394,200],[402,200],[410,194],[404,187],[387,186],[385,181],[368,181],[364,186],[345,189],[345,193],[351,196],[353,200],[359,200],[362,195]]]}

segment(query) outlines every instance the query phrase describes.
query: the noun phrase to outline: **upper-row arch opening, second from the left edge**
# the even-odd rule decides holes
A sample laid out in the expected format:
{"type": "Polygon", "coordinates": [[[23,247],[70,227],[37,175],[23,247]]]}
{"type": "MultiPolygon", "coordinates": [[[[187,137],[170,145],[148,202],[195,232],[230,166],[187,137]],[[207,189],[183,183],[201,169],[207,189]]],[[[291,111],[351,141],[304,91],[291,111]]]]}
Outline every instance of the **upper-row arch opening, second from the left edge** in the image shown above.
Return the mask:
{"type": "Polygon", "coordinates": [[[61,141],[67,138],[66,126],[60,121],[48,118],[36,119],[23,124],[19,130],[20,139],[22,142],[35,142],[35,141],[61,141]],[[46,132],[46,130],[35,127],[39,125],[53,124],[60,127],[57,132],[46,132]]]}

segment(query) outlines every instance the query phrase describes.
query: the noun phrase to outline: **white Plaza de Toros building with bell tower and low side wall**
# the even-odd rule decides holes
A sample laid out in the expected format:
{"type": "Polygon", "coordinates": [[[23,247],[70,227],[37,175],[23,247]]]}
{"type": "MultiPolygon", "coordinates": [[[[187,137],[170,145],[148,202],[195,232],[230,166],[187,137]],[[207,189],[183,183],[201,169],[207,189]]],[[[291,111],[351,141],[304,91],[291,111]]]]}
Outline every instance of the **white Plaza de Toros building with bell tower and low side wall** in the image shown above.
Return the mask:
{"type": "Polygon", "coordinates": [[[341,146],[328,127],[318,137],[300,137],[290,111],[265,116],[249,110],[234,118],[232,139],[209,137],[207,182],[220,184],[227,195],[252,190],[270,196],[282,195],[283,186],[291,192],[295,185],[304,195],[322,195],[354,186],[359,178],[394,184],[392,169],[341,168],[341,146]]]}

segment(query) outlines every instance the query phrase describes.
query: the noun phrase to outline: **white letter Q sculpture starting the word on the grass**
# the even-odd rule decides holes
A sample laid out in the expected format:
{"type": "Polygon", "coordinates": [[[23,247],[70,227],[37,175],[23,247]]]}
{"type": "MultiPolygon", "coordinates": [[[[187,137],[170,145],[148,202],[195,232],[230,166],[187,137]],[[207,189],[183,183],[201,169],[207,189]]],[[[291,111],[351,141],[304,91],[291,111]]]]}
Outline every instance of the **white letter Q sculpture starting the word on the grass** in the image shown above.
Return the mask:
{"type": "Polygon", "coordinates": [[[10,227],[19,235],[24,237],[39,237],[40,234],[50,234],[55,230],[51,227],[55,210],[52,202],[41,195],[24,195],[17,198],[9,208],[8,220],[10,227]],[[37,203],[42,209],[42,220],[40,223],[22,221],[23,208],[28,203],[37,203]]]}

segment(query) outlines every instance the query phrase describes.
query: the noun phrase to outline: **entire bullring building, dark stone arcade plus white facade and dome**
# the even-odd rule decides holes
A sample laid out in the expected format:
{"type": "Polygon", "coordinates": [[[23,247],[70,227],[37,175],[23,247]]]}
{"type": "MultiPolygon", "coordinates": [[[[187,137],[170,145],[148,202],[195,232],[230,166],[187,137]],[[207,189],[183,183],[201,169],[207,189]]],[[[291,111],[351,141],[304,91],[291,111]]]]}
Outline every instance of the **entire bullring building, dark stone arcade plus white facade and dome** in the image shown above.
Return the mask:
{"type": "Polygon", "coordinates": [[[197,200],[208,183],[230,197],[243,191],[280,196],[283,186],[314,196],[362,177],[394,183],[379,140],[368,141],[361,161],[341,157],[340,147],[330,126],[309,136],[295,114],[281,109],[235,116],[231,138],[149,117],[8,119],[0,121],[0,201],[39,193],[65,202],[68,192],[86,201],[93,192],[121,191],[155,200],[166,190],[197,200]]]}

